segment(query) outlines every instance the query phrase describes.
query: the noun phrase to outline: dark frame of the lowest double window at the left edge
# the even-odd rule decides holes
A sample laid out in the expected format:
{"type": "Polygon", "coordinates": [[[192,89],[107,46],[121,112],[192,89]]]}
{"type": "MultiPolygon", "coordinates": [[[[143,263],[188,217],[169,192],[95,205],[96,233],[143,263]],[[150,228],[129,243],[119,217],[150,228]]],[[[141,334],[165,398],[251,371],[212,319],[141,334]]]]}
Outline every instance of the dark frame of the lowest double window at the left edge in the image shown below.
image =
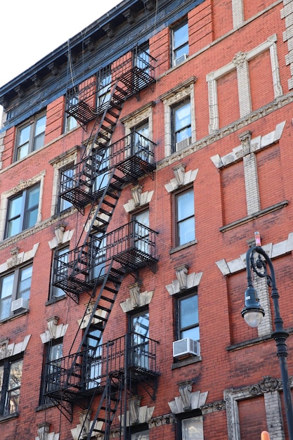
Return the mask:
{"type": "MultiPolygon", "coordinates": [[[[15,406],[15,411],[13,413],[11,413],[10,411],[8,413],[6,412],[8,406],[7,399],[9,392],[15,392],[16,390],[20,390],[21,388],[22,373],[23,373],[23,356],[17,356],[17,357],[13,356],[10,358],[5,358],[3,361],[0,362],[0,368],[2,366],[3,366],[3,382],[2,382],[2,386],[0,383],[0,420],[5,418],[16,417],[18,415],[20,391],[18,394],[18,403],[15,406]],[[13,363],[18,363],[20,361],[22,361],[20,384],[18,385],[18,387],[9,388],[9,382],[11,377],[11,365],[13,363]]],[[[0,375],[0,379],[1,379],[1,375],[0,375]]]]}

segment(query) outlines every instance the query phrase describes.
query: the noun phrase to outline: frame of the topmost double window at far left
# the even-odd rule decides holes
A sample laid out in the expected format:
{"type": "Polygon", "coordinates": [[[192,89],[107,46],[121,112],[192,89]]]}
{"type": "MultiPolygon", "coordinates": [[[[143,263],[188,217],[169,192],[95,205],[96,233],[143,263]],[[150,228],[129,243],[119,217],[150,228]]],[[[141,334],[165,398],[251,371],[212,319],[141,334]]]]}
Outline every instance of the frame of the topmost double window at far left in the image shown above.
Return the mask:
{"type": "Polygon", "coordinates": [[[30,155],[30,153],[32,153],[33,151],[40,150],[42,147],[44,147],[45,135],[46,135],[46,111],[45,112],[43,111],[41,113],[38,113],[37,115],[34,115],[34,117],[25,121],[17,128],[13,162],[18,162],[18,160],[25,159],[25,157],[30,155]],[[37,123],[39,122],[40,119],[43,119],[44,117],[45,117],[44,131],[41,131],[41,133],[36,134],[37,123]],[[20,137],[22,130],[26,129],[27,127],[30,127],[29,138],[26,143],[22,143],[22,145],[20,145],[20,137]],[[40,136],[44,138],[44,141],[41,146],[37,147],[37,138],[39,138],[40,136]],[[21,148],[26,144],[28,144],[27,154],[23,155],[22,157],[18,157],[21,148]]]}

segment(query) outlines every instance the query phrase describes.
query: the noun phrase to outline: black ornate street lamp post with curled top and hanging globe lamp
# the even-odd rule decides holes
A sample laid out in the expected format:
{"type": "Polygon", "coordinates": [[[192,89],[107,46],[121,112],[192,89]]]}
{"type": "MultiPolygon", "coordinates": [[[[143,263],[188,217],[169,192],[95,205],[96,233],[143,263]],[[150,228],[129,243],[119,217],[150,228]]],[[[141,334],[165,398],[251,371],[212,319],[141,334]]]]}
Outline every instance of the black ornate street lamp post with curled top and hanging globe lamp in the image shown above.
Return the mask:
{"type": "Polygon", "coordinates": [[[274,324],[275,331],[272,333],[273,339],[277,345],[277,356],[280,361],[280,370],[282,377],[282,389],[285,401],[285,413],[287,419],[287,427],[289,433],[289,440],[293,440],[293,408],[292,397],[289,384],[289,374],[287,368],[287,346],[286,339],[289,336],[283,328],[283,321],[280,317],[279,309],[279,293],[275,283],[275,270],[273,268],[272,261],[268,254],[263,250],[261,246],[250,247],[246,254],[246,268],[247,268],[247,290],[245,291],[245,307],[242,309],[241,314],[245,319],[245,322],[251,327],[257,327],[264,316],[264,310],[259,304],[259,296],[254,289],[252,283],[252,271],[256,273],[260,278],[266,278],[268,287],[271,287],[271,297],[273,299],[274,308],[274,324]],[[254,254],[258,254],[258,257],[254,259],[254,254]],[[261,258],[261,256],[263,258],[261,258]],[[268,273],[266,264],[270,269],[268,273]]]}

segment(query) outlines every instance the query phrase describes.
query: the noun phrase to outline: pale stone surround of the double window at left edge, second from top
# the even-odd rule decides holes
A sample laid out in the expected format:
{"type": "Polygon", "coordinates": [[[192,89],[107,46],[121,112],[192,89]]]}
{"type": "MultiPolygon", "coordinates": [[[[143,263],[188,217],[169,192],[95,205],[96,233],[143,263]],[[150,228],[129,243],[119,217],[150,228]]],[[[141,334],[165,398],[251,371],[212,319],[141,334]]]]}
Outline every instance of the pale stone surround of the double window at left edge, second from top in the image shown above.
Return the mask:
{"type": "MultiPolygon", "coordinates": [[[[40,183],[39,188],[39,209],[37,214],[37,222],[36,224],[41,223],[41,207],[43,204],[43,193],[44,193],[44,179],[45,179],[46,170],[37,174],[37,176],[32,177],[32,179],[28,179],[26,181],[21,180],[18,183],[18,186],[11,188],[8,191],[5,191],[1,194],[1,207],[0,207],[0,241],[4,240],[4,232],[5,232],[5,224],[6,224],[6,213],[8,207],[8,199],[13,195],[20,193],[21,191],[30,188],[35,183],[40,183]]],[[[20,231],[21,233],[22,231],[20,231]]]]}

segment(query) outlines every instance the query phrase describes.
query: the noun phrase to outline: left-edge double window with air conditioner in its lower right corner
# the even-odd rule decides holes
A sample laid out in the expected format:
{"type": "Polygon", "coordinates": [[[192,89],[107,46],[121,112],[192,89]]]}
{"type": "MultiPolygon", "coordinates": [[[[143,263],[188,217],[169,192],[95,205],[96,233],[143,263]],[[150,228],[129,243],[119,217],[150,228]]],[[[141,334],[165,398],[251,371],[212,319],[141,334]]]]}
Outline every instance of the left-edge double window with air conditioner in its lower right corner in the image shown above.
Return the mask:
{"type": "Polygon", "coordinates": [[[11,304],[15,299],[30,299],[32,264],[18,268],[0,279],[0,321],[12,316],[11,304]]]}

